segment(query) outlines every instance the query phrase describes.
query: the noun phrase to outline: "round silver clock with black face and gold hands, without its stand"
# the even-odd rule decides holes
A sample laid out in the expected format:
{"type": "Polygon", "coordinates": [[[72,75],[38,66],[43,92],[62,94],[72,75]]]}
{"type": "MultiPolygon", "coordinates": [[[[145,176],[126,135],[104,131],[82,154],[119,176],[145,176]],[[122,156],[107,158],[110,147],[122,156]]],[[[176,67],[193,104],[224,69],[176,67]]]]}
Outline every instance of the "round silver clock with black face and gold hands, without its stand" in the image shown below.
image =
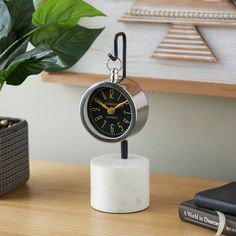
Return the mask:
{"type": "Polygon", "coordinates": [[[85,92],[80,115],[92,136],[105,142],[120,142],[143,128],[148,117],[148,102],[136,82],[127,78],[108,79],[85,92]]]}

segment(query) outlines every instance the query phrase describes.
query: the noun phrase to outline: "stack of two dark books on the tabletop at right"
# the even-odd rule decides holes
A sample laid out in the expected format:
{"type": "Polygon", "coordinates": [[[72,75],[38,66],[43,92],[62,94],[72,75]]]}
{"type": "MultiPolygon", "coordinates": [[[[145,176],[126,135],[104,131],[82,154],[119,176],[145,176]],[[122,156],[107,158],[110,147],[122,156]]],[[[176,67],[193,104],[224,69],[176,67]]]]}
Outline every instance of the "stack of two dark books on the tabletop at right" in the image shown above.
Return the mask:
{"type": "Polygon", "coordinates": [[[198,192],[179,205],[181,220],[215,231],[220,224],[217,211],[225,216],[223,234],[236,235],[236,182],[198,192]]]}

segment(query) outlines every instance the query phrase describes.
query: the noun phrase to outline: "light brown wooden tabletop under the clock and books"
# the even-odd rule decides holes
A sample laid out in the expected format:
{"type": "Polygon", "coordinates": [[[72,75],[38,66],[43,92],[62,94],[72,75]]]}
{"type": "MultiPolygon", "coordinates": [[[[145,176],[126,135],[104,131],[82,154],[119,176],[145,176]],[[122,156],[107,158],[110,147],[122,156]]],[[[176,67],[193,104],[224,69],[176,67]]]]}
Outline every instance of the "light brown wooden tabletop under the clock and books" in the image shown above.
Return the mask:
{"type": "Polygon", "coordinates": [[[29,182],[0,198],[0,235],[214,235],[179,220],[177,206],[195,192],[223,183],[152,174],[151,206],[147,210],[107,214],[89,205],[88,167],[32,161],[29,182]]]}

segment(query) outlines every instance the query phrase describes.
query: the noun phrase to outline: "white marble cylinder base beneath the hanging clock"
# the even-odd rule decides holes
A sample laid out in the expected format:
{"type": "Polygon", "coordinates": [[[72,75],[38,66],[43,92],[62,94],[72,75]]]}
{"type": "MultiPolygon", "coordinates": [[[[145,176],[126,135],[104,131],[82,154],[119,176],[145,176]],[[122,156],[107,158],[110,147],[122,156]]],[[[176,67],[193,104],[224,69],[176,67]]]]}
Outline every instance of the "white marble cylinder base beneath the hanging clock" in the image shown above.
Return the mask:
{"type": "Polygon", "coordinates": [[[120,154],[95,157],[90,162],[91,206],[110,213],[130,213],[150,205],[150,171],[146,157],[120,154]]]}

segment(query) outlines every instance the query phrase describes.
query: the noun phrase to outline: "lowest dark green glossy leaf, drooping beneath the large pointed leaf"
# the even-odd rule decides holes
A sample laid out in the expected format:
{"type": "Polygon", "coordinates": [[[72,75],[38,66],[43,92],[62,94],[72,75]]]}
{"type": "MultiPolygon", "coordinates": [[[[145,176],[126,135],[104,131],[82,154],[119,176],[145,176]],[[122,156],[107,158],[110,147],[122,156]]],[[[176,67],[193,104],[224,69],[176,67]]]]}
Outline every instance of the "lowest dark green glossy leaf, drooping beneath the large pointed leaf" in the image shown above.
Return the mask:
{"type": "Polygon", "coordinates": [[[29,75],[39,74],[51,67],[57,69],[67,66],[48,45],[40,45],[16,57],[5,71],[0,71],[0,80],[20,85],[29,75]]]}

